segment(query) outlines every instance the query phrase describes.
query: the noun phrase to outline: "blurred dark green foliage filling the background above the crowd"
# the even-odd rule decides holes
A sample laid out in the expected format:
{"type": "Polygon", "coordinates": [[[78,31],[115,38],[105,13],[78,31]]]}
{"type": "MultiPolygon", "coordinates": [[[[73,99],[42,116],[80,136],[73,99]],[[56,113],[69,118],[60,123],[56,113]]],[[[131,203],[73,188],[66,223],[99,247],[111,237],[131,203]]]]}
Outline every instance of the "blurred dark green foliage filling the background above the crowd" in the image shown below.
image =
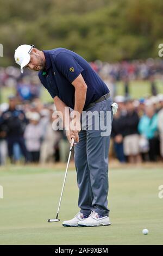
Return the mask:
{"type": "Polygon", "coordinates": [[[162,0],[0,0],[1,65],[14,63],[20,44],[65,47],[87,60],[158,57],[162,0]]]}

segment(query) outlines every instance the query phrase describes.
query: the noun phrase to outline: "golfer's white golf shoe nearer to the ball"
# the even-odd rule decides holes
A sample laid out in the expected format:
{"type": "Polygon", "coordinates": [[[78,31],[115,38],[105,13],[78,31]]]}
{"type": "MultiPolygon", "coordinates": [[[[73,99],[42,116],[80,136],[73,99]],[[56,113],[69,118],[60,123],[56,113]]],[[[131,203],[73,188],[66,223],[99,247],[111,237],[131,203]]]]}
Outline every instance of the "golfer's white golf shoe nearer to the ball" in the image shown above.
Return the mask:
{"type": "Polygon", "coordinates": [[[101,215],[97,214],[96,211],[92,211],[88,218],[78,222],[79,227],[97,227],[105,225],[110,225],[109,217],[102,217],[101,215]]]}

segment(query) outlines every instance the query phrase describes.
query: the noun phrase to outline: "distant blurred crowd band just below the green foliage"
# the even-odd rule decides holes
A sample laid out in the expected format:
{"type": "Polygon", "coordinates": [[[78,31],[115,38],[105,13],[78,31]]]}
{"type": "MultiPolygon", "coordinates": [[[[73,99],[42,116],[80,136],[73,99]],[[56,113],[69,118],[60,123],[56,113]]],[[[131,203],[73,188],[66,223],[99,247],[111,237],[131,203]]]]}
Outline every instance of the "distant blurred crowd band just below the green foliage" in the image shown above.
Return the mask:
{"type": "MultiPolygon", "coordinates": [[[[108,77],[112,81],[149,80],[153,76],[160,78],[163,75],[163,60],[161,58],[118,63],[96,60],[95,62],[91,62],[90,65],[104,80],[108,77]]],[[[7,68],[0,67],[0,85],[7,87],[15,86],[22,99],[29,100],[35,96],[39,96],[40,87],[38,87],[38,83],[39,80],[37,79],[36,72],[26,69],[22,75],[20,69],[14,66],[8,66],[7,68]],[[21,88],[23,92],[21,92],[21,88]]]]}

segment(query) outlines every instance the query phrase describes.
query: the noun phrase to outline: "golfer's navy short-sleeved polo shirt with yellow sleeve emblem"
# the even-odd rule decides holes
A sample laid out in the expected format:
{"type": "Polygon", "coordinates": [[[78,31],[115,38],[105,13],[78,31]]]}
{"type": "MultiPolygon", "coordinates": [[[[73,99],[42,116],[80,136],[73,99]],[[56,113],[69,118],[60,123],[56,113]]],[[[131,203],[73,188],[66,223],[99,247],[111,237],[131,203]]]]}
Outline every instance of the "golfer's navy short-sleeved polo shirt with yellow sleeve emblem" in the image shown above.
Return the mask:
{"type": "Polygon", "coordinates": [[[39,71],[43,86],[54,99],[58,96],[68,107],[74,109],[75,88],[72,82],[82,74],[87,85],[84,108],[109,93],[109,89],[90,64],[77,53],[65,48],[43,51],[46,69],[39,71]]]}

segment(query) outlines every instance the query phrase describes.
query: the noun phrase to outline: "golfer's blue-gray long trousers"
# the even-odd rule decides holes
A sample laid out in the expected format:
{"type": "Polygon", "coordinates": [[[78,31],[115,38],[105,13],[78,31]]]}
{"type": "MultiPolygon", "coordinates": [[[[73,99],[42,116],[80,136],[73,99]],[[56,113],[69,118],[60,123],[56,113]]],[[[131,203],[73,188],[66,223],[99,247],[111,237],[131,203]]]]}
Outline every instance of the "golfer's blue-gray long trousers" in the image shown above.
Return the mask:
{"type": "MultiPolygon", "coordinates": [[[[112,126],[112,99],[96,103],[88,111],[94,112],[99,118],[99,123],[104,123],[111,132],[112,126]],[[107,119],[107,114],[109,118],[107,119]]],[[[83,115],[83,113],[82,113],[83,115]]],[[[78,206],[80,212],[90,215],[95,210],[99,215],[108,216],[108,154],[110,144],[110,132],[105,133],[104,127],[95,129],[95,120],[92,122],[92,130],[86,124],[86,129],[79,132],[79,143],[74,146],[74,159],[77,170],[77,182],[79,187],[78,206]]]]}

